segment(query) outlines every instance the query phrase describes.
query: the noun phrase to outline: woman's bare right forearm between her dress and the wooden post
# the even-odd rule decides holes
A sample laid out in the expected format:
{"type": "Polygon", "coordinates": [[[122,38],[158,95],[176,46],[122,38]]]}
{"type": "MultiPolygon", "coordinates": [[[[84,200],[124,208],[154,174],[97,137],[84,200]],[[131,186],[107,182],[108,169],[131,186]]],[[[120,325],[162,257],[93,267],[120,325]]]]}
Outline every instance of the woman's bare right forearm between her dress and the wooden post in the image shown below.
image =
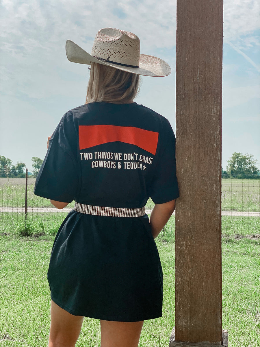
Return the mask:
{"type": "Polygon", "coordinates": [[[154,239],[160,234],[174,210],[175,200],[166,202],[164,204],[154,205],[153,211],[151,211],[150,215],[150,225],[154,239]]]}

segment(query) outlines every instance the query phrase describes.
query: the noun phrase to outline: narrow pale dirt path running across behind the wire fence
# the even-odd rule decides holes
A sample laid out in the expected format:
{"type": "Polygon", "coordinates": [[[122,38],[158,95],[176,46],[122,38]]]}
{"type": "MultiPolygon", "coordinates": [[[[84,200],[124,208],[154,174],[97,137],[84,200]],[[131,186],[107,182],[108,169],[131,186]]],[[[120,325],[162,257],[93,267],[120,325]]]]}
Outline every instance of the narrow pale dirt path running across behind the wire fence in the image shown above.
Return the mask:
{"type": "MultiPolygon", "coordinates": [[[[56,212],[69,212],[71,209],[58,210],[51,207],[28,207],[27,212],[35,213],[56,213],[56,212]]],[[[0,207],[0,212],[24,212],[24,208],[21,207],[0,207]]],[[[151,213],[151,210],[145,211],[147,214],[151,213]]],[[[175,211],[173,212],[175,214],[175,211]]],[[[222,211],[223,216],[245,216],[245,217],[260,217],[260,212],[237,212],[237,211],[222,211]]]]}

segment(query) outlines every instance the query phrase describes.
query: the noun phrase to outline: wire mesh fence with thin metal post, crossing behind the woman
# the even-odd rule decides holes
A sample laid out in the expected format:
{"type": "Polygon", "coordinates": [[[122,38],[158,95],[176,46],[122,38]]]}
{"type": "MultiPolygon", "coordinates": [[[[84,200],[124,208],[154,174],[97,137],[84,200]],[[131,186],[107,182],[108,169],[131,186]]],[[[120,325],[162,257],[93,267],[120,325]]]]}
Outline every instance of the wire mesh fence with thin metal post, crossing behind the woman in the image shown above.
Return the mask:
{"type": "MultiPolygon", "coordinates": [[[[0,178],[0,233],[55,235],[74,202],[62,210],[33,194],[35,178],[0,178]]],[[[150,213],[154,203],[146,205],[150,213]]],[[[222,178],[222,234],[260,234],[260,179],[222,178]]]]}

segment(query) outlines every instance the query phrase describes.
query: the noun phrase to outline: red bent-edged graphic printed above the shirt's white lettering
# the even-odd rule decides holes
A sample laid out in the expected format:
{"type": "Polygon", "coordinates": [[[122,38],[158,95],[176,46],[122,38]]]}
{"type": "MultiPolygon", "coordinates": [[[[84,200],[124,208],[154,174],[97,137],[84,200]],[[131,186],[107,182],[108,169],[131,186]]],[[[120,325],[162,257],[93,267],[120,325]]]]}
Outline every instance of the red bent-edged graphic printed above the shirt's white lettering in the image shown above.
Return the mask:
{"type": "Polygon", "coordinates": [[[79,125],[79,149],[85,149],[107,142],[125,142],[136,145],[155,155],[158,133],[116,125],[79,125]]]}

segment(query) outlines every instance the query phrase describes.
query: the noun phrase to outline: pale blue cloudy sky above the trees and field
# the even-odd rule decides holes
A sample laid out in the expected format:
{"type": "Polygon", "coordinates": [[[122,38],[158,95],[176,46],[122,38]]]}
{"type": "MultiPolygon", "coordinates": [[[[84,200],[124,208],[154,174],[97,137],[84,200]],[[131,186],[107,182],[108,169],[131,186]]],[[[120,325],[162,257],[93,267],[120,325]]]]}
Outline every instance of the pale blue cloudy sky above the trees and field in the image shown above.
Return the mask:
{"type": "MultiPolygon", "coordinates": [[[[260,168],[260,2],[224,0],[222,167],[234,152],[260,168]]],[[[67,39],[91,52],[99,29],[136,34],[140,53],[165,60],[166,77],[141,76],[134,100],[166,117],[175,132],[176,1],[0,0],[0,155],[44,158],[47,137],[85,103],[87,65],[68,61],[67,39]]]]}

